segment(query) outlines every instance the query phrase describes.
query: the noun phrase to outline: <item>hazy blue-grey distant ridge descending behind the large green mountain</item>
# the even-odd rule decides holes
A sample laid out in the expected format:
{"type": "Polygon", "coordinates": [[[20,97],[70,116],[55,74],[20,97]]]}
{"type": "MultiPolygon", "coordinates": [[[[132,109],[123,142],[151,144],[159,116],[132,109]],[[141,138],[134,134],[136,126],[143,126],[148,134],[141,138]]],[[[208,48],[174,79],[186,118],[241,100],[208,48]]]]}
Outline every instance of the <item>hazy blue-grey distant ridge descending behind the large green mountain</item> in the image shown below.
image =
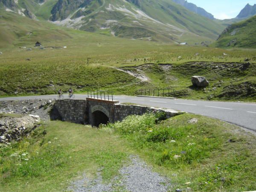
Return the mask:
{"type": "Polygon", "coordinates": [[[183,7],[186,7],[186,9],[189,9],[189,11],[197,13],[198,15],[207,17],[207,18],[212,19],[212,20],[215,19],[214,16],[211,13],[207,12],[206,10],[204,10],[201,7],[196,6],[193,3],[187,2],[186,0],[172,0],[172,1],[181,5],[181,6],[183,6],[183,7]]]}

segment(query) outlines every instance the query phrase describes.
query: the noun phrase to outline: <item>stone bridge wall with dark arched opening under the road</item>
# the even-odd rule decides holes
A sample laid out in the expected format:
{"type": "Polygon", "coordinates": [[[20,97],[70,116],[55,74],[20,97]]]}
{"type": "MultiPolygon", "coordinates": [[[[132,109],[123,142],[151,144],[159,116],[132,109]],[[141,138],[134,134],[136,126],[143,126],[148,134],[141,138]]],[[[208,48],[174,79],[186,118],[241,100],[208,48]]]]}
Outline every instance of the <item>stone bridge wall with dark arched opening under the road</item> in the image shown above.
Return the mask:
{"type": "Polygon", "coordinates": [[[172,117],[179,112],[156,109],[139,105],[122,105],[118,101],[87,98],[86,100],[59,99],[55,101],[52,110],[52,119],[90,124],[98,127],[100,124],[121,121],[128,115],[142,115],[146,112],[161,111],[166,117],[172,117]]]}

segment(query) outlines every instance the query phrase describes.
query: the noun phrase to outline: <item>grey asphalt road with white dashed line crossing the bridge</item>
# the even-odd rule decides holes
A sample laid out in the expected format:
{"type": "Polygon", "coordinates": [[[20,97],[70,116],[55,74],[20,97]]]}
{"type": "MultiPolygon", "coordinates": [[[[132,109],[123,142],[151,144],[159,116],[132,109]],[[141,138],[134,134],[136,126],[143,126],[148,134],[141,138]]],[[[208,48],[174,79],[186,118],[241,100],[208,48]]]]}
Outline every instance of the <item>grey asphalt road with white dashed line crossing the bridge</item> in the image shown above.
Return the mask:
{"type": "MultiPolygon", "coordinates": [[[[76,95],[75,99],[85,99],[87,95],[76,95]]],[[[48,96],[24,96],[0,98],[4,100],[24,100],[24,99],[56,99],[55,95],[48,96]]],[[[67,98],[67,95],[65,95],[67,98]]],[[[213,117],[226,122],[230,122],[241,127],[256,131],[256,103],[243,102],[211,102],[195,101],[184,99],[166,99],[152,97],[135,96],[114,96],[114,100],[121,103],[135,103],[152,107],[169,108],[186,111],[189,113],[200,114],[213,117]]]]}

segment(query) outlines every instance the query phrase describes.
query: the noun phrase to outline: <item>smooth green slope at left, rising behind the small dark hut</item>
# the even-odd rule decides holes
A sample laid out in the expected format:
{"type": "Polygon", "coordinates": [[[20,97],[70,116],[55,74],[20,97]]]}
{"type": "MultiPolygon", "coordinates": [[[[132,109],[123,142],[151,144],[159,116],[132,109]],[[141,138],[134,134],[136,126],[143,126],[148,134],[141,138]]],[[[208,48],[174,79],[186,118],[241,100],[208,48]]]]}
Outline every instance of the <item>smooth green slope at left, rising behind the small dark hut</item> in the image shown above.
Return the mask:
{"type": "Polygon", "coordinates": [[[36,41],[64,41],[71,36],[67,29],[55,26],[46,21],[22,17],[12,12],[1,10],[0,48],[32,46],[36,41]]]}

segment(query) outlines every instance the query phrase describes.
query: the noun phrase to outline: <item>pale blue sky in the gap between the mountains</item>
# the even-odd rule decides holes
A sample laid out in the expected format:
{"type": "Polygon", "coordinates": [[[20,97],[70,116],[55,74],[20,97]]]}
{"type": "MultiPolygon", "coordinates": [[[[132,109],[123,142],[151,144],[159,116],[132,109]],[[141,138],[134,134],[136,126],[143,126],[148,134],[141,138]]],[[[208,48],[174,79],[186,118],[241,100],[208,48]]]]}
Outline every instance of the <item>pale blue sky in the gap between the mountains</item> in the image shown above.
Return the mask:
{"type": "Polygon", "coordinates": [[[217,19],[230,19],[236,17],[241,9],[246,6],[256,4],[256,0],[187,0],[199,7],[204,8],[207,12],[214,15],[217,19]]]}

